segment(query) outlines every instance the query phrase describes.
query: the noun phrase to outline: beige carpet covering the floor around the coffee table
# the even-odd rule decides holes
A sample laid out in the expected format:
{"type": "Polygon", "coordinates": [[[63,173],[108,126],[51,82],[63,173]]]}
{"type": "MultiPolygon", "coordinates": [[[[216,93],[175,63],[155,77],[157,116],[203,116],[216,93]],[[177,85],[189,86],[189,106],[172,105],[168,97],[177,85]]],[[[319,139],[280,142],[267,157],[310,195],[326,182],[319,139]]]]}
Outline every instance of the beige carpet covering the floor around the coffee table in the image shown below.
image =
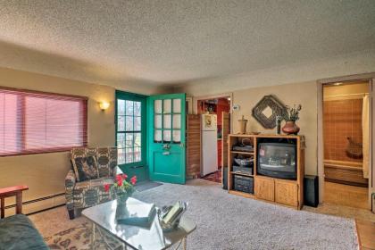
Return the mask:
{"type": "MultiPolygon", "coordinates": [[[[197,222],[197,229],[187,239],[188,249],[357,248],[353,220],[232,196],[220,185],[202,179],[186,186],[165,184],[135,196],[159,206],[178,199],[189,202],[186,216],[197,222]]],[[[51,249],[90,248],[90,223],[82,216],[70,221],[65,207],[29,218],[51,249]]],[[[103,240],[97,242],[97,249],[105,249],[103,240]]]]}

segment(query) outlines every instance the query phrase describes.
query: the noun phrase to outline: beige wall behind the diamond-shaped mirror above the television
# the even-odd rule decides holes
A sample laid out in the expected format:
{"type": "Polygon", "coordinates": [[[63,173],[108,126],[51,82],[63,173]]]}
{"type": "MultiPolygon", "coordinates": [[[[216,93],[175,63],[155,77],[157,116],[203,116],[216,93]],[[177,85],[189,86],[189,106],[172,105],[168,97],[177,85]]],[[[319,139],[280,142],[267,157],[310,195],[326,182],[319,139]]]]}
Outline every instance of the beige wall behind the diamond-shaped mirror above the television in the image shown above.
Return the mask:
{"type": "MultiPolygon", "coordinates": [[[[248,120],[247,131],[261,131],[274,134],[276,129],[263,129],[254,120],[252,109],[263,96],[274,95],[283,104],[293,106],[302,104],[300,120],[297,125],[301,128],[299,134],[306,138],[305,173],[317,174],[317,85],[315,82],[287,84],[274,87],[254,87],[233,92],[233,104],[239,104],[240,110],[233,112],[233,131],[238,132],[238,122],[242,115],[248,120]]],[[[283,124],[282,124],[283,125],[283,124]]]]}

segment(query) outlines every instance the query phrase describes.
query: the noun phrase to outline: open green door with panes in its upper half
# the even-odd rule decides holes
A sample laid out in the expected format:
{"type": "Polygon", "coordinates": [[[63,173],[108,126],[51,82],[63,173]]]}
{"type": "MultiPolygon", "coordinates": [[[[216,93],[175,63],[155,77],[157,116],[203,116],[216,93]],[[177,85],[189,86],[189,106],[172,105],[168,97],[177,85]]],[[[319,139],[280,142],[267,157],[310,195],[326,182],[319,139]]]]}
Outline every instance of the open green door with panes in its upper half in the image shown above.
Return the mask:
{"type": "Polygon", "coordinates": [[[152,180],[185,183],[185,99],[185,94],[147,99],[147,155],[152,180]]]}

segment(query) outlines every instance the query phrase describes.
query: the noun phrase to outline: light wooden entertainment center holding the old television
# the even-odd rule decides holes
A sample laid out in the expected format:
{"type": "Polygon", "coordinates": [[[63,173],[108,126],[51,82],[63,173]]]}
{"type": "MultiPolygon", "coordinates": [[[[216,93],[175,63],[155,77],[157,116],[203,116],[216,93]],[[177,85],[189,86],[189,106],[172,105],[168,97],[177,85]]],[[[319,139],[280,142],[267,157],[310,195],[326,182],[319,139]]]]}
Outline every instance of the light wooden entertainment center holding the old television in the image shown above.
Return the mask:
{"type": "Polygon", "coordinates": [[[304,137],[284,135],[229,135],[228,145],[228,190],[229,194],[245,196],[254,199],[287,205],[301,209],[304,204],[304,137]],[[258,174],[257,171],[257,141],[264,138],[287,139],[296,143],[296,179],[280,179],[258,174]],[[246,139],[254,146],[253,152],[234,151],[233,146],[241,144],[246,139]],[[254,157],[253,174],[233,171],[234,158],[238,155],[254,157]],[[233,179],[236,175],[253,178],[253,194],[234,189],[233,179]]]}

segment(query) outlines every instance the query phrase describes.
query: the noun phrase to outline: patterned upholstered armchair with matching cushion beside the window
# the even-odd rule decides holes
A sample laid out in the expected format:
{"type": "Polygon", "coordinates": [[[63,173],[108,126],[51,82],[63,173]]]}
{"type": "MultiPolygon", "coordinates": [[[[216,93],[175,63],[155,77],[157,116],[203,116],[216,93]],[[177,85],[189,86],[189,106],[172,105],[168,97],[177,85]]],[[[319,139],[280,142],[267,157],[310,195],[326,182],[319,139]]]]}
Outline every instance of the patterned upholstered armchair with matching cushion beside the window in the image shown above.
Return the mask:
{"type": "Polygon", "coordinates": [[[71,166],[65,178],[65,197],[72,220],[75,210],[114,198],[111,193],[105,192],[104,184],[113,184],[121,170],[117,166],[117,147],[73,148],[71,166]]]}

